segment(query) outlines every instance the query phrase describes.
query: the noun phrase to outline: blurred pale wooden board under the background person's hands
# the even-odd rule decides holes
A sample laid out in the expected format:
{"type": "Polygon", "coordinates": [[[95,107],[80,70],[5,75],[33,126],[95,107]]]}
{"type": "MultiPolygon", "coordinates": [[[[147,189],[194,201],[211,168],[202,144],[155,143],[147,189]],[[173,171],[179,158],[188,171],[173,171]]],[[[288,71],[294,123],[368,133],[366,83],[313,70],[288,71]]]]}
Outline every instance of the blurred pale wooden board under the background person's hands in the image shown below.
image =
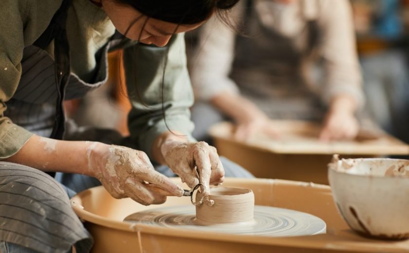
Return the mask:
{"type": "Polygon", "coordinates": [[[320,127],[304,121],[272,121],[272,127],[279,133],[273,139],[263,134],[239,142],[233,138],[234,126],[231,123],[217,124],[210,129],[215,139],[225,140],[238,145],[275,154],[340,154],[340,155],[408,155],[409,146],[381,131],[380,129],[361,129],[358,137],[352,141],[321,142],[318,140],[320,127]]]}

